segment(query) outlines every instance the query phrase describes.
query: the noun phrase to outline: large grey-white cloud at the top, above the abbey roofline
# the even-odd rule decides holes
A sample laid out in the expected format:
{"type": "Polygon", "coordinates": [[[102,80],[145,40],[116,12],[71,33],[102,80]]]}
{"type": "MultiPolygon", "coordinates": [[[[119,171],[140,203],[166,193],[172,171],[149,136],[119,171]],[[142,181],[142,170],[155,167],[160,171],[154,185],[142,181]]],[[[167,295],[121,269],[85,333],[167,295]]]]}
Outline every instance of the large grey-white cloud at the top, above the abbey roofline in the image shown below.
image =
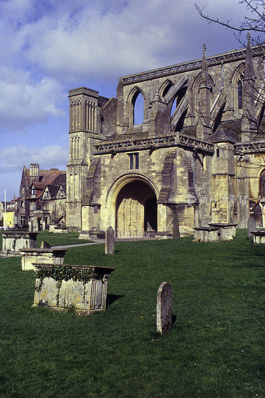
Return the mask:
{"type": "MultiPolygon", "coordinates": [[[[20,1],[11,2],[17,3],[18,10],[20,1]]],[[[246,11],[237,1],[198,2],[206,4],[208,14],[223,20],[227,15],[243,18],[246,11]]],[[[209,49],[220,47],[221,42],[225,46],[224,37],[230,35],[215,24],[209,27],[199,16],[193,0],[46,3],[49,5],[46,8],[35,5],[32,19],[17,25],[16,37],[24,61],[61,81],[95,78],[109,81],[124,73],[194,59],[197,57],[194,49],[200,56],[204,41],[209,43],[209,49]]]]}

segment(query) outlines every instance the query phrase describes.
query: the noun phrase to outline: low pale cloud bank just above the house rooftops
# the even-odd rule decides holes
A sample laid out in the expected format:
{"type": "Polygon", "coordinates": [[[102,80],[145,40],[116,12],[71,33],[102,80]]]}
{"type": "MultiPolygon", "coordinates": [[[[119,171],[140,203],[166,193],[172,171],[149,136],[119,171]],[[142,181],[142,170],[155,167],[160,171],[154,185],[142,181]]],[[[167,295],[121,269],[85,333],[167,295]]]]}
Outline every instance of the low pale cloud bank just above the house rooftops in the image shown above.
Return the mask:
{"type": "Polygon", "coordinates": [[[22,173],[23,165],[28,168],[30,163],[38,163],[40,169],[58,167],[60,170],[66,170],[68,156],[68,151],[60,145],[47,145],[41,148],[30,148],[26,145],[12,146],[0,151],[0,172],[22,173]]]}

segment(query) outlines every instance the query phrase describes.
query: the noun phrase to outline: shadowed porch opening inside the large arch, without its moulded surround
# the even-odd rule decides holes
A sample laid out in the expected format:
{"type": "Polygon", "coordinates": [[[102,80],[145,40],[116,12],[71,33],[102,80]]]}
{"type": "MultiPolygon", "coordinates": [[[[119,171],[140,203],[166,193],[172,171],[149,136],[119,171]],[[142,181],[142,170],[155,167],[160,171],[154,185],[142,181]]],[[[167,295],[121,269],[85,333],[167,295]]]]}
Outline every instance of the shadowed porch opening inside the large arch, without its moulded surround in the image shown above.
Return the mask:
{"type": "Polygon", "coordinates": [[[116,236],[147,236],[157,231],[157,198],[143,181],[124,185],[116,200],[116,236]]]}

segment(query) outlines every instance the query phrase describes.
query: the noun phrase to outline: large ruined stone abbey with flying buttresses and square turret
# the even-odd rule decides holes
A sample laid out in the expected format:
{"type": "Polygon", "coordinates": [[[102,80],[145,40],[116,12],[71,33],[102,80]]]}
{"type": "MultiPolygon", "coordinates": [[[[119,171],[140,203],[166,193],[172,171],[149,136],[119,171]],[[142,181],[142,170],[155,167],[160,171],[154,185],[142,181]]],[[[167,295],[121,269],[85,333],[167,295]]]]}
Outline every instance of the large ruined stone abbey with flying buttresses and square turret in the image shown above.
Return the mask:
{"type": "Polygon", "coordinates": [[[265,226],[264,60],[247,48],[69,91],[67,227],[171,237],[209,222],[265,226]],[[135,109],[143,102],[143,119],[135,109]]]}

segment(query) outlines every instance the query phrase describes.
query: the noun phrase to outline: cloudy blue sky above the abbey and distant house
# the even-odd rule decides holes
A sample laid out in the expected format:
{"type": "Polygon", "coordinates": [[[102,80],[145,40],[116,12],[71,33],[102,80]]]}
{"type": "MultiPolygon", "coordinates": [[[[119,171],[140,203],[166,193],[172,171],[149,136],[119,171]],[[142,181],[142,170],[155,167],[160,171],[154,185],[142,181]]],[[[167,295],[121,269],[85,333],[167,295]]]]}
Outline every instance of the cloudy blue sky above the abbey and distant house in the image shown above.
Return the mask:
{"type": "Polygon", "coordinates": [[[240,43],[195,8],[237,23],[239,0],[0,0],[0,200],[22,168],[66,170],[68,91],[115,97],[118,78],[220,54],[240,43]]]}

